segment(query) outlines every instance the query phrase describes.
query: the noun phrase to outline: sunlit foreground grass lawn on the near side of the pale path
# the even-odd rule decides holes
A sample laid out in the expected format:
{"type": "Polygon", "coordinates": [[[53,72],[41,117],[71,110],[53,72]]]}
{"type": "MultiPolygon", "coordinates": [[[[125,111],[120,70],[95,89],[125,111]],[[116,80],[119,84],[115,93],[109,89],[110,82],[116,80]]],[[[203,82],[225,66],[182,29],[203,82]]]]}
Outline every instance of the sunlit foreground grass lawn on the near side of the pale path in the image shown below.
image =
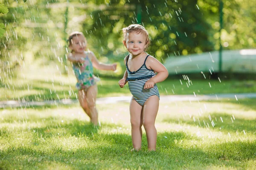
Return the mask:
{"type": "Polygon", "coordinates": [[[161,101],[155,152],[144,130],[130,151],[128,103],[97,107],[100,127],[79,104],[1,109],[0,169],[256,169],[255,99],[161,101]]]}

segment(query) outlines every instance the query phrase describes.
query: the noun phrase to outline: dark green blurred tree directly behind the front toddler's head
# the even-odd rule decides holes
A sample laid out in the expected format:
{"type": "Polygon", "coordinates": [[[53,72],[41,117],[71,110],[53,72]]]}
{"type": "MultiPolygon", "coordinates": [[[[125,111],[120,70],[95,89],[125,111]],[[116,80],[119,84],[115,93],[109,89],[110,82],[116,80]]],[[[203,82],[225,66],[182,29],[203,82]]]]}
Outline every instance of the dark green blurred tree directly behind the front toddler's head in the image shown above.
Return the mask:
{"type": "MultiPolygon", "coordinates": [[[[183,0],[181,3],[176,0],[162,0],[157,3],[154,0],[141,2],[129,0],[125,3],[116,0],[109,4],[109,6],[117,5],[121,5],[121,8],[111,11],[93,11],[95,22],[92,28],[96,29],[91,31],[96,37],[100,37],[99,41],[103,49],[108,47],[106,49],[108,52],[105,52],[107,55],[120,48],[118,43],[122,43],[121,29],[138,22],[136,8],[140,6],[142,15],[140,24],[145,26],[151,37],[149,51],[158,59],[164,59],[168,54],[186,55],[214,49],[214,44],[208,39],[208,30],[211,26],[198,9],[197,0],[183,0]],[[134,6],[132,11],[124,10],[122,7],[131,5],[134,6]]],[[[104,50],[102,50],[103,54],[104,50]]]]}

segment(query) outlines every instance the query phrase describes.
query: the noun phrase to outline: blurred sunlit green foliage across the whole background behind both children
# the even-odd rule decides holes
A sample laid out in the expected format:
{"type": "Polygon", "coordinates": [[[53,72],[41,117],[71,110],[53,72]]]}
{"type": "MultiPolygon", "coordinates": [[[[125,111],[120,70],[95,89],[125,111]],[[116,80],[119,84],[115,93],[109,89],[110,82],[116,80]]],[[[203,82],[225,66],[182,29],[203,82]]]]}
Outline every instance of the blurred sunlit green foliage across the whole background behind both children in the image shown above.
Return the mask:
{"type": "MultiPolygon", "coordinates": [[[[161,62],[169,55],[219,49],[219,2],[212,0],[6,0],[9,12],[0,18],[7,39],[0,42],[1,59],[9,65],[45,58],[64,68],[72,31],[82,31],[88,47],[102,62],[122,62],[122,28],[141,20],[151,37],[148,53],[161,62]],[[8,2],[8,3],[7,3],[8,2]],[[56,17],[58,16],[58,17],[56,17]],[[141,16],[141,19],[138,18],[141,16]],[[44,50],[42,50],[44,49],[44,50]],[[29,55],[25,55],[29,53],[29,55]],[[18,56],[18,57],[17,57],[18,56]],[[22,57],[19,57],[22,56],[22,57]],[[27,56],[30,56],[27,57],[27,56]],[[106,56],[106,57],[105,57],[106,56]]],[[[224,49],[256,48],[256,11],[250,0],[223,0],[224,49]]],[[[5,8],[6,9],[6,8],[5,8]]],[[[0,32],[3,32],[1,25],[0,32]]],[[[122,64],[122,63],[121,63],[122,64]]]]}

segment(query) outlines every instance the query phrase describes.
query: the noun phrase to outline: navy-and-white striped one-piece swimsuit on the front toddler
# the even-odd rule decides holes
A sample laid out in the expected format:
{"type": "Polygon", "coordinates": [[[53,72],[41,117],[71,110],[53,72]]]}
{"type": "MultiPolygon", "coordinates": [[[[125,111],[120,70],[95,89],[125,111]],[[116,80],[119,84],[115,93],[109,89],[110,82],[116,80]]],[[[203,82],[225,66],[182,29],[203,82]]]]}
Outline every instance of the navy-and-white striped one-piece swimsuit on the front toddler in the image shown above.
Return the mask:
{"type": "MultiPolygon", "coordinates": [[[[149,56],[149,55],[148,55],[149,56]]],[[[128,86],[131,94],[133,95],[134,99],[143,106],[145,101],[150,96],[158,96],[160,99],[159,91],[157,88],[157,84],[154,84],[153,88],[144,89],[145,82],[148,81],[151,77],[154,77],[156,75],[155,71],[150,70],[146,67],[146,59],[145,58],[144,64],[137,70],[137,71],[130,71],[128,68],[128,59],[129,55],[126,60],[126,69],[128,73],[127,81],[128,86]]]]}

